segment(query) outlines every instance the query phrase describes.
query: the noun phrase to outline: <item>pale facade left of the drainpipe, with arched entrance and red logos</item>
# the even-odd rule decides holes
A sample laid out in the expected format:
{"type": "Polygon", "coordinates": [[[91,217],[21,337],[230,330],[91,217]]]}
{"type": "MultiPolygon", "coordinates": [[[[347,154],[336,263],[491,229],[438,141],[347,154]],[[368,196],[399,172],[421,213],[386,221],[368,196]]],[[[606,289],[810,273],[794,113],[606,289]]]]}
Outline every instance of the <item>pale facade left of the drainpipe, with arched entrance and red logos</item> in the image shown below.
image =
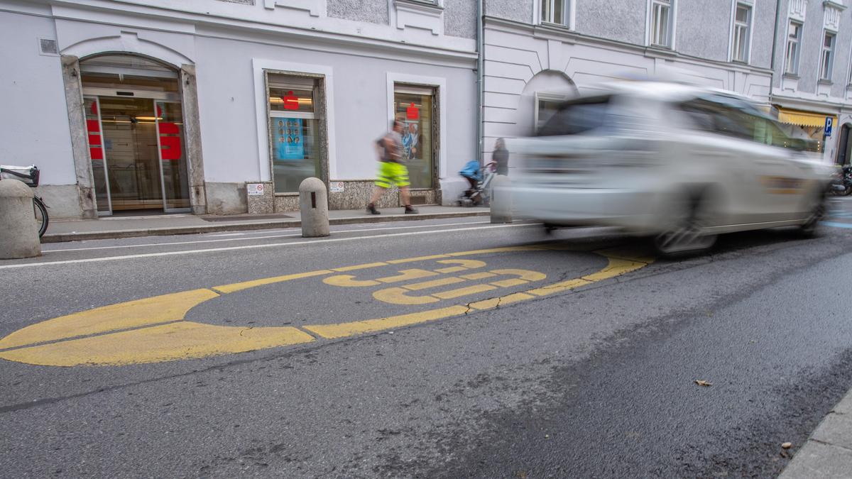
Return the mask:
{"type": "Polygon", "coordinates": [[[0,159],[39,166],[55,217],[292,211],[308,176],[361,208],[402,118],[412,202],[440,203],[476,155],[475,19],[469,0],[0,0],[0,159]]]}

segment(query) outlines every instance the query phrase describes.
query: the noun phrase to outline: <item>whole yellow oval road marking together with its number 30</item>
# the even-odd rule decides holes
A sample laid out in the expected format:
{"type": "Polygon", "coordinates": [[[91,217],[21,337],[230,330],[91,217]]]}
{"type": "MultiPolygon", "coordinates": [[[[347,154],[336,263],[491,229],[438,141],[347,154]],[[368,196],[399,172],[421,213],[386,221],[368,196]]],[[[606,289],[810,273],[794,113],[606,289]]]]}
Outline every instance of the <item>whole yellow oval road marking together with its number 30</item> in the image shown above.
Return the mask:
{"type": "Polygon", "coordinates": [[[619,251],[593,251],[607,258],[607,266],[594,274],[550,285],[535,286],[546,279],[537,271],[515,268],[485,269],[484,261],[469,257],[488,253],[512,251],[547,251],[541,246],[513,246],[488,250],[462,251],[446,255],[412,257],[388,262],[368,263],[335,269],[320,269],[307,273],[286,274],[231,285],[181,291],[148,297],[126,303],[89,309],[60,316],[32,326],[26,326],[0,339],[0,358],[42,366],[128,365],[162,361],[197,359],[212,355],[242,353],[256,349],[310,343],[318,338],[346,338],[369,332],[410,326],[452,316],[465,315],[471,310],[494,309],[588,286],[596,281],[613,278],[647,266],[652,258],[631,257],[619,251]],[[389,265],[435,260],[435,268],[403,268],[396,274],[364,279],[365,270],[389,265]],[[359,275],[340,274],[358,271],[359,275]],[[325,276],[329,286],[368,287],[388,285],[372,293],[384,303],[419,305],[466,297],[487,291],[515,286],[535,286],[500,297],[456,304],[417,313],[393,315],[371,320],[337,324],[295,326],[215,326],[185,320],[190,309],[205,301],[286,281],[325,276]],[[485,282],[475,283],[475,281],[485,282]],[[471,284],[474,283],[474,284],[471,284]],[[398,285],[398,286],[390,286],[398,285]],[[449,286],[449,287],[444,287],[449,286]],[[419,293],[433,288],[440,291],[419,293]]]}

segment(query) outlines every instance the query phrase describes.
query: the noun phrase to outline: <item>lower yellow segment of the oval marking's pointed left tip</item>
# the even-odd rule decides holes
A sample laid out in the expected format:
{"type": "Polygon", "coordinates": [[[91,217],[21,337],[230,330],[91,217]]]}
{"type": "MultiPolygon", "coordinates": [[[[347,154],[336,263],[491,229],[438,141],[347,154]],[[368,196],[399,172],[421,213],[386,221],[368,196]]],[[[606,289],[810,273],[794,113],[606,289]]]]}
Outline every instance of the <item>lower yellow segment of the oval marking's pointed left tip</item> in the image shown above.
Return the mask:
{"type": "Polygon", "coordinates": [[[245,353],[311,341],[314,341],[311,335],[290,326],[249,328],[179,321],[104,336],[12,349],[0,352],[0,358],[42,366],[118,366],[245,353]]]}

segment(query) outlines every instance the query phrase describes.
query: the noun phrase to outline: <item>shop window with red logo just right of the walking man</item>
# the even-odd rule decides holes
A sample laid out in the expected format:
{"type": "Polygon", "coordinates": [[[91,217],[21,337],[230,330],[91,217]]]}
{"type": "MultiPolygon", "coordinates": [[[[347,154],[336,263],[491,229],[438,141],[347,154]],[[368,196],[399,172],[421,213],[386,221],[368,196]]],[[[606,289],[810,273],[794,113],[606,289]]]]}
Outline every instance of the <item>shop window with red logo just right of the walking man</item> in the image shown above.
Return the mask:
{"type": "Polygon", "coordinates": [[[435,90],[414,85],[394,85],[394,114],[402,120],[402,161],[408,167],[412,188],[435,187],[435,90]]]}

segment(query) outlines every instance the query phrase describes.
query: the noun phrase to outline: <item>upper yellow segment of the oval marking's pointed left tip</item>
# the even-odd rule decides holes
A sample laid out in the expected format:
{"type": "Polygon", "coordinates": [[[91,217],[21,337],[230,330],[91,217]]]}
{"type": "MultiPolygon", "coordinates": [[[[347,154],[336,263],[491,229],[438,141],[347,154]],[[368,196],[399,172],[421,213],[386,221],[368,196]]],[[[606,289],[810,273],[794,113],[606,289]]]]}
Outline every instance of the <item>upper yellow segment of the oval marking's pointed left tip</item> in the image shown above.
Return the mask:
{"type": "Polygon", "coordinates": [[[9,334],[0,340],[0,349],[178,321],[189,309],[218,296],[210,290],[182,291],[60,316],[9,334]]]}

